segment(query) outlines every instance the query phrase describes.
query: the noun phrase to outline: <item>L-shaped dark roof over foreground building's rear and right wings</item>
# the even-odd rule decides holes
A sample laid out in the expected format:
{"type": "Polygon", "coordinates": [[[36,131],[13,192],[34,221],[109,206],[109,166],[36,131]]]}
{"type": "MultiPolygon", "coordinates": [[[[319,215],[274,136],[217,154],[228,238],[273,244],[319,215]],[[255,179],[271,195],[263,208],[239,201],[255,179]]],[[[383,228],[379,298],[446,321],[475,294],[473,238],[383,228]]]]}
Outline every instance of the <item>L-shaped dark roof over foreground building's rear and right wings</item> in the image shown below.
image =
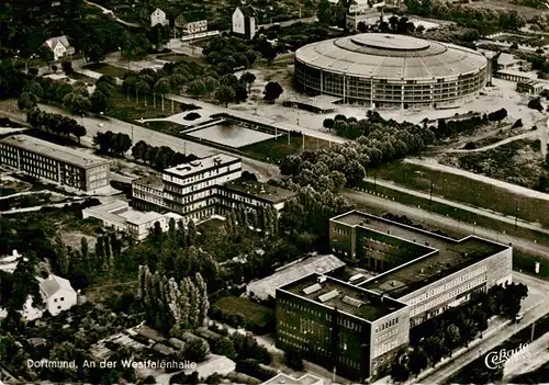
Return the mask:
{"type": "Polygon", "coordinates": [[[415,292],[423,286],[509,248],[509,246],[492,242],[475,236],[469,236],[459,240],[451,239],[356,211],[343,214],[330,220],[377,230],[389,236],[419,244],[433,250],[413,261],[377,275],[360,285],[377,293],[385,293],[393,298],[415,292]]]}

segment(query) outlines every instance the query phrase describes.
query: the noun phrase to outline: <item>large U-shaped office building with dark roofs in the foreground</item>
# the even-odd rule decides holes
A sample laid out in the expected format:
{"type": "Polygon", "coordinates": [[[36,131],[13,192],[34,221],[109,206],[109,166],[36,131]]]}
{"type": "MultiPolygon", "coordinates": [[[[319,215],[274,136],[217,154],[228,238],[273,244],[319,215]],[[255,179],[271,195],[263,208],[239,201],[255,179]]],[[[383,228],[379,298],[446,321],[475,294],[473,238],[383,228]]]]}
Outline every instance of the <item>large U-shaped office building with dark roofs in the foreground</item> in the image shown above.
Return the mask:
{"type": "Polygon", "coordinates": [[[334,362],[354,380],[383,372],[411,328],[512,281],[512,248],[475,236],[456,240],[349,212],[330,219],[329,241],[336,256],[376,275],[312,274],[279,287],[277,344],[334,362]]]}

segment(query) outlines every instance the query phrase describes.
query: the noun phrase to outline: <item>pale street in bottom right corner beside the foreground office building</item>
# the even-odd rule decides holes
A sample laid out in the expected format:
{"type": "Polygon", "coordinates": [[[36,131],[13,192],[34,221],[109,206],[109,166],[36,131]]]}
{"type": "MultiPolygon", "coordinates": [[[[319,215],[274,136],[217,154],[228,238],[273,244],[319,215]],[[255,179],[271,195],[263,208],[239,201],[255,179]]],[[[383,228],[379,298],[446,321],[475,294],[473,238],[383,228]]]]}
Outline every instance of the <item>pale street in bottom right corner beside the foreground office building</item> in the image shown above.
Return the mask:
{"type": "Polygon", "coordinates": [[[425,374],[406,383],[406,385],[416,383],[442,384],[467,364],[481,355],[485,356],[486,353],[509,339],[514,333],[529,327],[549,312],[549,284],[546,281],[517,272],[513,272],[513,281],[528,285],[528,297],[523,303],[524,318],[518,324],[506,322],[498,332],[484,337],[482,340],[473,341],[464,353],[459,356],[455,354],[453,359],[448,361],[447,364],[424,372],[425,374]]]}

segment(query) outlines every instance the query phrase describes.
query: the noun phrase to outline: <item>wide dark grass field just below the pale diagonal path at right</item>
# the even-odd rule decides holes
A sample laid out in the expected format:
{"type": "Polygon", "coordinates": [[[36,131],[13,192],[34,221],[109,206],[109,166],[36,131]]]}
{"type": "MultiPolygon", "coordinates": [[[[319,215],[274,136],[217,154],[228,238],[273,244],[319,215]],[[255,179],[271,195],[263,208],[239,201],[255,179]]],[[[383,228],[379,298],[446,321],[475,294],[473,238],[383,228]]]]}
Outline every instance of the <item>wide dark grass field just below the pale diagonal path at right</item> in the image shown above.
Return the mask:
{"type": "MultiPolygon", "coordinates": [[[[475,181],[466,177],[432,170],[404,162],[393,162],[368,170],[368,175],[393,181],[399,185],[429,193],[450,201],[488,208],[549,227],[549,202],[527,197],[512,191],[475,181]]],[[[453,208],[452,208],[453,210],[453,208]]]]}

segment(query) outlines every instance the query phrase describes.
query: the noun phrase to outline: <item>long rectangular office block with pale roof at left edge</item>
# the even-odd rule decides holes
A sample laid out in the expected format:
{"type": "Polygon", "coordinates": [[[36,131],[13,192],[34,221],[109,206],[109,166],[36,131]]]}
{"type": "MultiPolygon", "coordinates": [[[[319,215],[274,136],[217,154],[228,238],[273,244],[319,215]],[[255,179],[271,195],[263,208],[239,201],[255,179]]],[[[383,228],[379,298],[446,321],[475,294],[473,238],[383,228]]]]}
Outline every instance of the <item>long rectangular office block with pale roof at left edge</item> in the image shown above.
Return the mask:
{"type": "Polygon", "coordinates": [[[27,135],[0,140],[0,163],[86,192],[110,185],[108,160],[27,135]]]}

